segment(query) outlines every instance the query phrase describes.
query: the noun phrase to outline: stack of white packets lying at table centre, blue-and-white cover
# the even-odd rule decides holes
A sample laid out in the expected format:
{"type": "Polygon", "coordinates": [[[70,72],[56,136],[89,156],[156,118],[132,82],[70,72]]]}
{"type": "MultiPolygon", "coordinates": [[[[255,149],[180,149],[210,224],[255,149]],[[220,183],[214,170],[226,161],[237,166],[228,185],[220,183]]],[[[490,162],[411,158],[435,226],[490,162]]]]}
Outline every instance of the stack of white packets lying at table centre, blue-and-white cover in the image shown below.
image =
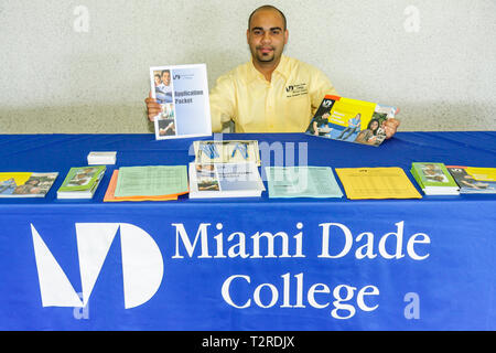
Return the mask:
{"type": "Polygon", "coordinates": [[[263,190],[256,163],[190,163],[190,199],[258,197],[263,190]]]}

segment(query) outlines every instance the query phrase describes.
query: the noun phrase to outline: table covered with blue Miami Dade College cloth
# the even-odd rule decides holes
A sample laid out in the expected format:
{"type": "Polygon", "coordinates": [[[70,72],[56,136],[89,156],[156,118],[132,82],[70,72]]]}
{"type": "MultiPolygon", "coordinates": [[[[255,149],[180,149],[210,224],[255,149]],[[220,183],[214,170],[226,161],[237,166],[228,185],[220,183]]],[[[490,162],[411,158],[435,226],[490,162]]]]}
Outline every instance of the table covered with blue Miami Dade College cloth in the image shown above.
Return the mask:
{"type": "MultiPolygon", "coordinates": [[[[258,140],[263,165],[401,167],[417,188],[413,161],[496,167],[495,131],[212,138],[258,140]]],[[[194,140],[1,136],[0,171],[61,174],[44,199],[0,200],[0,329],[496,329],[495,195],[103,202],[114,168],[186,164],[194,140]],[[94,199],[56,200],[106,150],[94,199]]]]}

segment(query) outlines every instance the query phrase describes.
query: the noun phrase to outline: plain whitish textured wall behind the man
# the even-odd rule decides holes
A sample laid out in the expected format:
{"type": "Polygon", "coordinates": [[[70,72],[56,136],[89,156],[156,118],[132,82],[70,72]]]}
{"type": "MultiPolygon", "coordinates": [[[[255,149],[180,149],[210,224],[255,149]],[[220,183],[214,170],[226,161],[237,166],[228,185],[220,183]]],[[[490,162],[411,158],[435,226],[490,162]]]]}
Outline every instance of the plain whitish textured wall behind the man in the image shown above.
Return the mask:
{"type": "MultiPolygon", "coordinates": [[[[149,67],[246,62],[255,0],[2,0],[0,133],[149,132],[149,67]],[[87,17],[85,17],[87,14],[87,17]],[[86,31],[87,30],[87,31],[86,31]]],[[[400,130],[495,130],[496,1],[285,0],[285,53],[400,130]]]]}

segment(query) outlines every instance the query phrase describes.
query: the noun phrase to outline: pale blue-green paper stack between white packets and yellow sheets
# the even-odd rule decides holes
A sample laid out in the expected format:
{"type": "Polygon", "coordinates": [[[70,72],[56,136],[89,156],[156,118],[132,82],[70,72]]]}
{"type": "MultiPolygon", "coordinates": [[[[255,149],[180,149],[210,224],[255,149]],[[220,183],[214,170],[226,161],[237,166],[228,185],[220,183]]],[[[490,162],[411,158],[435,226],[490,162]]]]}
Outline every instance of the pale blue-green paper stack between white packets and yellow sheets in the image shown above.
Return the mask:
{"type": "Polygon", "coordinates": [[[343,197],[330,167],[266,167],[269,197],[343,197]]]}

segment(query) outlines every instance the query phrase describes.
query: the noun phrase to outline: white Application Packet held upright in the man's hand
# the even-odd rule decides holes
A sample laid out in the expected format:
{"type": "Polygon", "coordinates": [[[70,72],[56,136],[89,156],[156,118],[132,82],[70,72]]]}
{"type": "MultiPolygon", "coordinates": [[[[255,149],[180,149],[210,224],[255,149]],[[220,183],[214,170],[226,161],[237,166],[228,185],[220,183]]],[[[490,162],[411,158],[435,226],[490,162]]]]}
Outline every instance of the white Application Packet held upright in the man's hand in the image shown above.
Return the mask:
{"type": "Polygon", "coordinates": [[[212,136],[205,64],[150,67],[150,85],[161,106],[155,139],[212,136]]]}

